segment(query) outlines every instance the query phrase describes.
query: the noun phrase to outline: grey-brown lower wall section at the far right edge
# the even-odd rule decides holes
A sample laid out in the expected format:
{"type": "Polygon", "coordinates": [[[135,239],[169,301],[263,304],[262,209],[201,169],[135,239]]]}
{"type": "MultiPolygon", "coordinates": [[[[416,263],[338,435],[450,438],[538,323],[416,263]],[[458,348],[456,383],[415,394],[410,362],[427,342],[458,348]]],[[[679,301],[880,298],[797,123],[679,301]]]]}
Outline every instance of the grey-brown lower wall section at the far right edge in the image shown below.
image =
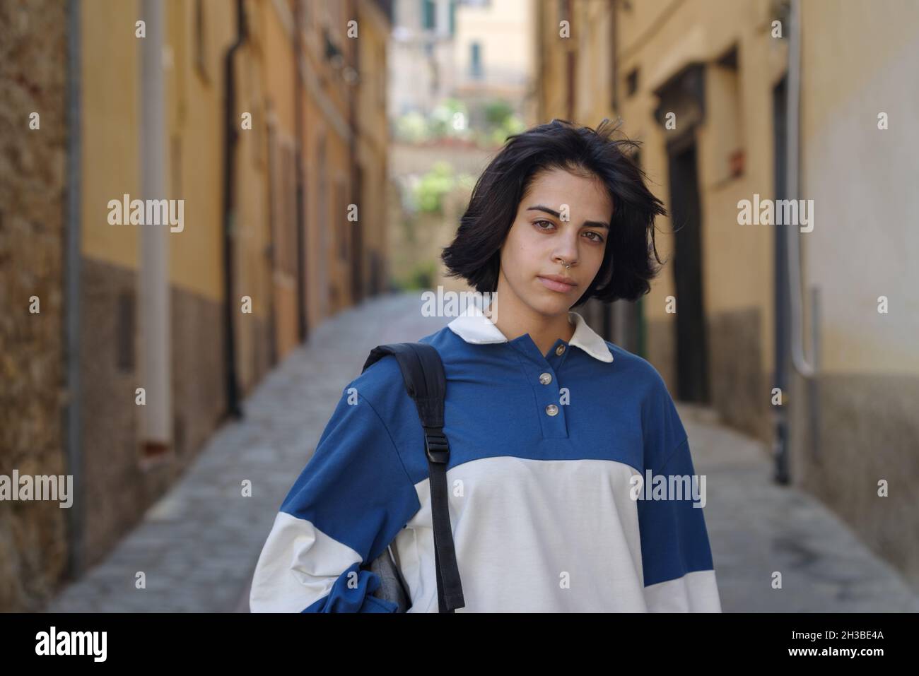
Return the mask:
{"type": "Polygon", "coordinates": [[[919,378],[832,374],[791,391],[792,480],[919,591],[919,378]],[[811,411],[820,411],[811,418],[811,411]],[[888,496],[878,495],[879,481],[888,496]]]}

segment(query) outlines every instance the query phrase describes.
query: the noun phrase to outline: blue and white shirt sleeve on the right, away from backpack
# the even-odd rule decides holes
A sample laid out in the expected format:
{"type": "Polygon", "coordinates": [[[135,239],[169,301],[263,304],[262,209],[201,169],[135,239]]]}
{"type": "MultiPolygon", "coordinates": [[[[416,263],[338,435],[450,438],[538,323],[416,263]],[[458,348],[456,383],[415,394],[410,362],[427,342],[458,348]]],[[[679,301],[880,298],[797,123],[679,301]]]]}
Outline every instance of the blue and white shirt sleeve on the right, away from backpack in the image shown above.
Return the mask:
{"type": "MultiPolygon", "coordinates": [[[[648,469],[652,477],[663,477],[668,484],[676,477],[687,478],[679,483],[682,499],[673,499],[671,494],[667,500],[638,503],[648,612],[720,613],[718,583],[703,509],[698,506],[701,501],[694,501],[691,492],[695,471],[688,439],[677,445],[664,465],[657,468],[652,463],[646,472],[648,469]]],[[[673,485],[676,484],[674,480],[673,485]]]]}

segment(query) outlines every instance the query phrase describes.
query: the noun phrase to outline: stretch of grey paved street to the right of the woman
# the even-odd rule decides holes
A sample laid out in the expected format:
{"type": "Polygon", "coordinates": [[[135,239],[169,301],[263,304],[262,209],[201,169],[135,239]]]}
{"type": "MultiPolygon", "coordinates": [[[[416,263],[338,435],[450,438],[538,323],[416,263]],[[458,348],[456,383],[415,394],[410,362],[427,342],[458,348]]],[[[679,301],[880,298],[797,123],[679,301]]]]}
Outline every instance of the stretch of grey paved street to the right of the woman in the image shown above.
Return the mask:
{"type": "Polygon", "coordinates": [[[772,480],[766,446],[678,405],[698,474],[725,613],[919,611],[919,597],[823,503],[772,480]],[[782,573],[772,589],[773,571],[782,573]]]}

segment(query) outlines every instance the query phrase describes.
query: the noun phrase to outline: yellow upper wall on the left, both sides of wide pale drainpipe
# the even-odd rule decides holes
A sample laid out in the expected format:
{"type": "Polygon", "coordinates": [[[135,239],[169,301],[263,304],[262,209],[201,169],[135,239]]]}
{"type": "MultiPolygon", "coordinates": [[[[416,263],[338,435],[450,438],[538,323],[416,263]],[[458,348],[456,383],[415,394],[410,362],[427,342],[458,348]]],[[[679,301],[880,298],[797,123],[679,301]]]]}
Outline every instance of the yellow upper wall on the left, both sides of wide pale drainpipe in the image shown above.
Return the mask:
{"type": "MultiPolygon", "coordinates": [[[[232,13],[210,11],[206,64],[193,59],[193,3],[165,6],[167,196],[184,199],[181,232],[169,233],[169,278],[177,287],[217,300],[221,292],[222,106],[220,54],[234,29],[232,13]]],[[[139,227],[108,223],[108,200],[140,196],[140,42],[135,0],[87,0],[83,24],[83,208],[86,256],[137,269],[139,227]],[[105,64],[105,67],[100,67],[105,64]]]]}

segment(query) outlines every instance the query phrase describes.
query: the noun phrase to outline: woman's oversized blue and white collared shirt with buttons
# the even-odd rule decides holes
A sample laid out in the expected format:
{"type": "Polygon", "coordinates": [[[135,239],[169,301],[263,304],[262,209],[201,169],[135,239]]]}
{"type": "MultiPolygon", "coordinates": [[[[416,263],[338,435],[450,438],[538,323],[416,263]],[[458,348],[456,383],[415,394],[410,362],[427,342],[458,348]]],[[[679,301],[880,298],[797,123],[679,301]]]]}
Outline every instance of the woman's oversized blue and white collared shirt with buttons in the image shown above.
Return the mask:
{"type": "MultiPolygon", "coordinates": [[[[664,380],[579,313],[569,320],[571,341],[545,355],[473,306],[420,339],[447,377],[449,518],[465,600],[456,612],[720,612],[703,510],[686,495],[647,499],[643,485],[695,475],[664,380]]],[[[385,356],[342,391],[280,505],[251,610],[394,612],[361,568],[391,544],[407,612],[437,613],[424,449],[414,400],[385,356]]]]}

